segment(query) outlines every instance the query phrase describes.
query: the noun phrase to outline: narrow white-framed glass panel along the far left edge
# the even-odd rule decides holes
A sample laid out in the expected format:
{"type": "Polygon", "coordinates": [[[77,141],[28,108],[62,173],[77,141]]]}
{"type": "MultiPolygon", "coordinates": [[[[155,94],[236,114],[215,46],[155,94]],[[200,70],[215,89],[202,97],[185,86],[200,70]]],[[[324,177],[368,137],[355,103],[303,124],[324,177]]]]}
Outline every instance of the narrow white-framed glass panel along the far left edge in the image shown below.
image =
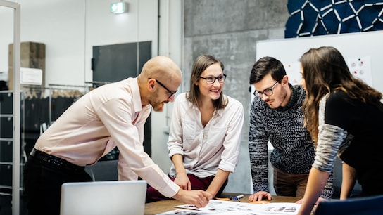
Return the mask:
{"type": "Polygon", "coordinates": [[[19,214],[20,87],[8,88],[8,74],[20,70],[20,5],[1,0],[0,19],[0,214],[19,214]]]}

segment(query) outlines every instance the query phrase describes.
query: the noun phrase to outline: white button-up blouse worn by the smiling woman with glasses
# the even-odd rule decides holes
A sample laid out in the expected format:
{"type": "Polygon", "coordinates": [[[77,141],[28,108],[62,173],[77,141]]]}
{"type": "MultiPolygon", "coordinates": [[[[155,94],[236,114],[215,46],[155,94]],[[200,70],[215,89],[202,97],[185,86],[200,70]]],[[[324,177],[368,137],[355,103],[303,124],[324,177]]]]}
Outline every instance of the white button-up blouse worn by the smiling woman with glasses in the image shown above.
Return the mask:
{"type": "MultiPolygon", "coordinates": [[[[204,178],[215,175],[219,169],[233,172],[238,162],[241,145],[244,107],[238,100],[229,100],[223,110],[215,110],[203,127],[201,112],[192,105],[186,93],[177,96],[173,107],[168,141],[169,157],[180,154],[187,174],[204,178]]],[[[175,167],[170,176],[175,177],[175,167]]]]}

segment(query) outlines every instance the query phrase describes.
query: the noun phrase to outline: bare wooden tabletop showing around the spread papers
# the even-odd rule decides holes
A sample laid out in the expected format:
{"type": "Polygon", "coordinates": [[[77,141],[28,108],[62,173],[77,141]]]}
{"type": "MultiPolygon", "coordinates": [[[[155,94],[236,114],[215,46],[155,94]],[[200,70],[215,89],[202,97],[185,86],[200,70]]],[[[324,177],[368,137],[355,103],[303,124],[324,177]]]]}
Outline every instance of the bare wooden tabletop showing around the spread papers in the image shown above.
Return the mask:
{"type": "MultiPolygon", "coordinates": [[[[270,202],[296,202],[299,199],[299,197],[274,195],[272,196],[272,200],[270,202]]],[[[249,194],[244,195],[244,197],[241,198],[241,202],[249,202],[249,194]]],[[[145,215],[154,215],[166,211],[172,211],[175,210],[175,206],[180,204],[184,203],[178,200],[163,200],[158,202],[147,203],[145,204],[145,215]]]]}

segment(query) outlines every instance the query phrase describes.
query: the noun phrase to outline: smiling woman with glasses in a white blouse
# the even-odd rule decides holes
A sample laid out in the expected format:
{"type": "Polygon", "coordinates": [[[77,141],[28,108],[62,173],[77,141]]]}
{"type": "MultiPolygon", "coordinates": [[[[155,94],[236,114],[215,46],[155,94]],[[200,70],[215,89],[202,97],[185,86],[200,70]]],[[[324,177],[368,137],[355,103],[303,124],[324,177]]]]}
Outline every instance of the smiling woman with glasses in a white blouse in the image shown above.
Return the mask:
{"type": "MultiPolygon", "coordinates": [[[[175,99],[168,140],[169,176],[184,190],[220,195],[239,159],[244,107],[223,93],[226,74],[217,58],[194,61],[190,90],[175,99]]],[[[153,188],[146,202],[167,200],[153,188]]]]}

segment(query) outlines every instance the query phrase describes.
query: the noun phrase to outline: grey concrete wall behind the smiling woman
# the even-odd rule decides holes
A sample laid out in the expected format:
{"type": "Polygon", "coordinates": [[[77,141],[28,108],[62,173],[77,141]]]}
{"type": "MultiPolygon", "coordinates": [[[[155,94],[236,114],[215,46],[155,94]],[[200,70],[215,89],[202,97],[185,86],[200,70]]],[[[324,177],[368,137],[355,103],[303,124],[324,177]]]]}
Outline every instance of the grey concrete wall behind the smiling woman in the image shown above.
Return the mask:
{"type": "Polygon", "coordinates": [[[226,192],[252,193],[249,161],[249,74],[256,63],[256,42],[284,38],[287,0],[184,0],[184,91],[194,59],[202,53],[225,65],[224,93],[244,105],[241,154],[226,192]]]}

